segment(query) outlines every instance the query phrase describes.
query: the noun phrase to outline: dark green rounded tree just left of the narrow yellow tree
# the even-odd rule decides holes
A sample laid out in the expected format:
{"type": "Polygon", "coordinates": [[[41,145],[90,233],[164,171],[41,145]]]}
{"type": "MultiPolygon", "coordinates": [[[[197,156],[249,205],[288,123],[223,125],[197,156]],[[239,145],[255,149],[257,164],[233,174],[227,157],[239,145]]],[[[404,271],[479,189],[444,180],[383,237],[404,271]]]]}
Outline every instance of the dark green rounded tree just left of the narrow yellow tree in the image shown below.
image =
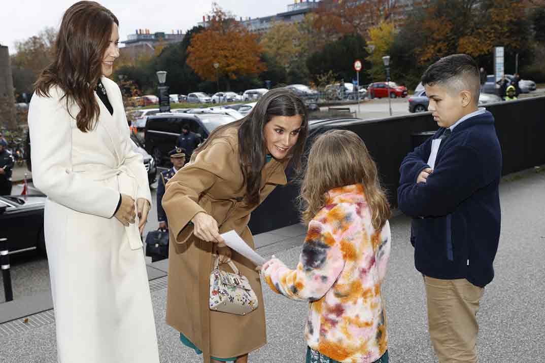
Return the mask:
{"type": "MultiPolygon", "coordinates": [[[[360,59],[364,70],[369,69],[368,56],[365,47],[365,39],[357,35],[344,35],[337,41],[326,44],[322,51],[314,52],[307,59],[307,67],[314,82],[318,82],[318,76],[329,71],[337,76],[337,80],[344,79],[350,82],[356,78],[354,61],[360,59]]],[[[360,83],[369,82],[365,72],[360,72],[360,83]]]]}

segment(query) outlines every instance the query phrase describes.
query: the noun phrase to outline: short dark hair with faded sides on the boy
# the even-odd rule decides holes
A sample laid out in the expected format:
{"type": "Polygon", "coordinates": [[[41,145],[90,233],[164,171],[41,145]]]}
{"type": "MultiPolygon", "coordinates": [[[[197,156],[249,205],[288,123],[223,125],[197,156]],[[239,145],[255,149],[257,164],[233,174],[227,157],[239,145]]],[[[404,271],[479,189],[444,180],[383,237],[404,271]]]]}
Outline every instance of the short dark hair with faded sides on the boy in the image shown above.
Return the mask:
{"type": "Polygon", "coordinates": [[[424,72],[421,82],[422,85],[441,85],[451,93],[469,90],[475,104],[479,103],[479,67],[467,54],[452,54],[439,59],[424,72]]]}

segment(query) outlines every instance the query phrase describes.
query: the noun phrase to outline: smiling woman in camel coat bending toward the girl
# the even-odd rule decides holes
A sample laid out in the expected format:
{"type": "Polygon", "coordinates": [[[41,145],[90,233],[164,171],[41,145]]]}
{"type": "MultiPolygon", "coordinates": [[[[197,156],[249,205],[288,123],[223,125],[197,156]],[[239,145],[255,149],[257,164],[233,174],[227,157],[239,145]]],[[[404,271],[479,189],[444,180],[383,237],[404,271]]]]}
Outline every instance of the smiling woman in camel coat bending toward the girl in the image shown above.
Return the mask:
{"type": "Polygon", "coordinates": [[[289,163],[299,167],[307,131],[304,103],[285,89],[271,90],[244,119],[215,130],[166,185],[162,205],[171,241],[166,320],[184,344],[203,351],[205,363],[228,358],[244,363],[267,341],[259,274],[250,260],[221,247],[220,233],[235,230],[255,248],[247,227],[250,213],[286,184],[289,163]],[[257,310],[245,316],[209,310],[215,253],[223,255],[222,262],[231,256],[249,279],[257,310]]]}

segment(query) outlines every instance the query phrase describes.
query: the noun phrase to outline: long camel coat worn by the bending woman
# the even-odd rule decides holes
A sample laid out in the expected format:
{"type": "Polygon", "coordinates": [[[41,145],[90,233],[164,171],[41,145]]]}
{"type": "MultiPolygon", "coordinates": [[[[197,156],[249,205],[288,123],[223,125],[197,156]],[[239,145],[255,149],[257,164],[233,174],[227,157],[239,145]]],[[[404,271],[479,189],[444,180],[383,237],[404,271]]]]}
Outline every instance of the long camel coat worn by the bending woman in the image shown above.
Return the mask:
{"type": "MultiPolygon", "coordinates": [[[[240,316],[210,311],[209,278],[215,244],[193,236],[188,222],[198,212],[214,217],[220,233],[235,230],[255,248],[247,224],[250,213],[244,201],[246,185],[239,167],[238,128],[226,130],[207,147],[193,154],[190,163],[168,181],[163,207],[170,231],[166,321],[211,356],[231,358],[251,352],[267,342],[265,312],[255,265],[233,251],[232,260],[250,281],[258,297],[255,311],[240,316]],[[243,188],[241,188],[243,186],[243,188]]],[[[272,159],[262,170],[260,203],[278,185],[287,183],[286,163],[272,159]]],[[[222,269],[229,270],[227,265],[222,269]]]]}

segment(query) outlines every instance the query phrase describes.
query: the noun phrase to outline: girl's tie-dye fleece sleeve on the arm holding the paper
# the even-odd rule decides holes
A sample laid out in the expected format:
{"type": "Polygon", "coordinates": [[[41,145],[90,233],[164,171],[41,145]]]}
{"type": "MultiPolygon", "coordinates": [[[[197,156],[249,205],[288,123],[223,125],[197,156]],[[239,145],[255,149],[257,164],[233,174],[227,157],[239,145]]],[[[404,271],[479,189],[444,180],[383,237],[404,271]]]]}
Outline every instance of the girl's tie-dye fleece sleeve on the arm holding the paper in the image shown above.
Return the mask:
{"type": "Polygon", "coordinates": [[[272,259],[263,275],[272,291],[294,300],[318,300],[335,283],[344,268],[340,243],[328,226],[315,220],[308,232],[295,270],[272,259]]]}

